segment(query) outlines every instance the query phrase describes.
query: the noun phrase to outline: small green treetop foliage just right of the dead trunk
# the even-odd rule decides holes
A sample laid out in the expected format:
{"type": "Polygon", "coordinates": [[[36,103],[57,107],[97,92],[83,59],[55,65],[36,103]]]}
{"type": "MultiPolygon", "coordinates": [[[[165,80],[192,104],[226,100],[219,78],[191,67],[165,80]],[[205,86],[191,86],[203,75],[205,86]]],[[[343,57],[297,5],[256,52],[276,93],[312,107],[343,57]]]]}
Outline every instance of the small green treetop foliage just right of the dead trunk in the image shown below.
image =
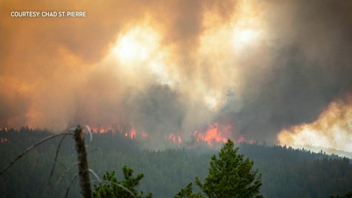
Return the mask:
{"type": "Polygon", "coordinates": [[[124,181],[120,182],[118,179],[114,176],[115,171],[109,172],[107,171],[106,174],[103,176],[103,181],[99,183],[99,186],[94,185],[94,192],[93,192],[93,197],[94,198],[132,198],[132,197],[137,197],[137,198],[151,198],[152,193],[149,193],[147,196],[143,196],[143,191],[138,194],[138,191],[135,189],[135,187],[139,184],[139,181],[144,177],[144,175],[141,173],[137,175],[137,177],[133,177],[133,169],[132,168],[127,168],[127,166],[124,166],[122,168],[122,171],[124,173],[124,181]],[[127,188],[130,192],[128,192],[126,189],[122,188],[121,186],[127,188]],[[131,194],[133,193],[133,195],[131,194]]]}

